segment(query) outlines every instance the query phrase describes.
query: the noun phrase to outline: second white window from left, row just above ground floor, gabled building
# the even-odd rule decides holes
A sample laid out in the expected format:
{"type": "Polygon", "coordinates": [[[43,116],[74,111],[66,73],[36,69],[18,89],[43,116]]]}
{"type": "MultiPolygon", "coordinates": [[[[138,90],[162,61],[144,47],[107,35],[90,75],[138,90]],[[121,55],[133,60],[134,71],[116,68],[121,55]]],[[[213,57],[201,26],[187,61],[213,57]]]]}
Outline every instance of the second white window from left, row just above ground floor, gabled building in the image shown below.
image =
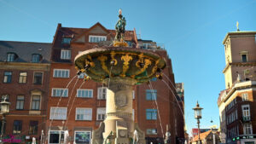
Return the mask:
{"type": "Polygon", "coordinates": [[[76,120],[91,120],[92,109],[91,108],[76,108],[76,120]]]}

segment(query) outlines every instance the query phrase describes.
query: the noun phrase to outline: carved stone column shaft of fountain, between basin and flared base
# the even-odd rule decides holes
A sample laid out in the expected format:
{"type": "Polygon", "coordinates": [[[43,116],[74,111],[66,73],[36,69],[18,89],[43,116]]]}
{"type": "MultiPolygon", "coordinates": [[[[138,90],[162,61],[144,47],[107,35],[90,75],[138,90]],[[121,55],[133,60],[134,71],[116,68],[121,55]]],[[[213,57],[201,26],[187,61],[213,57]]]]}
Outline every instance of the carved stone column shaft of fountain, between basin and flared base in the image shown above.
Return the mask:
{"type": "Polygon", "coordinates": [[[107,90],[106,113],[104,120],[105,132],[103,138],[107,138],[110,132],[117,138],[132,137],[134,122],[132,120],[132,90],[136,80],[131,78],[110,78],[103,81],[109,84],[107,90]]]}

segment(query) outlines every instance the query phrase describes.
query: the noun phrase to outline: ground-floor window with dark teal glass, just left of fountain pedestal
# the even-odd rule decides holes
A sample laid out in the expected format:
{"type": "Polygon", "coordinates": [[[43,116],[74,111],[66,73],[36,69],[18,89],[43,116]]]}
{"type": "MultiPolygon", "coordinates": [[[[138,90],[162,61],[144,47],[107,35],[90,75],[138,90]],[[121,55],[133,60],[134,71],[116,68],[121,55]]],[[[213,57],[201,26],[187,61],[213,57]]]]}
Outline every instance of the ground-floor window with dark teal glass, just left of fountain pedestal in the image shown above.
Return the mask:
{"type": "Polygon", "coordinates": [[[91,131],[74,131],[74,140],[76,144],[90,144],[91,131]]]}

